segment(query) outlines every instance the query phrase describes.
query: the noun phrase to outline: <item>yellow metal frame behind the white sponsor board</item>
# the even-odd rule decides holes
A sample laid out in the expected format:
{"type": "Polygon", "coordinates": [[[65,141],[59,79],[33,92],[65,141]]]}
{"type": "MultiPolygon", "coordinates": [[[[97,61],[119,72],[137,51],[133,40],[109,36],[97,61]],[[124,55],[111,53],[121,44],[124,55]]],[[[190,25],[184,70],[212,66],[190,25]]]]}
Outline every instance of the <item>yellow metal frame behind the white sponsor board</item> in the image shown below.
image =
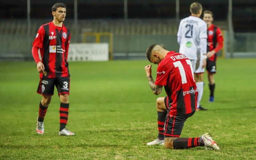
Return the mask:
{"type": "Polygon", "coordinates": [[[85,32],[84,43],[86,43],[86,36],[95,36],[96,43],[100,43],[100,36],[109,36],[109,60],[113,59],[113,34],[110,32],[85,32]]]}

